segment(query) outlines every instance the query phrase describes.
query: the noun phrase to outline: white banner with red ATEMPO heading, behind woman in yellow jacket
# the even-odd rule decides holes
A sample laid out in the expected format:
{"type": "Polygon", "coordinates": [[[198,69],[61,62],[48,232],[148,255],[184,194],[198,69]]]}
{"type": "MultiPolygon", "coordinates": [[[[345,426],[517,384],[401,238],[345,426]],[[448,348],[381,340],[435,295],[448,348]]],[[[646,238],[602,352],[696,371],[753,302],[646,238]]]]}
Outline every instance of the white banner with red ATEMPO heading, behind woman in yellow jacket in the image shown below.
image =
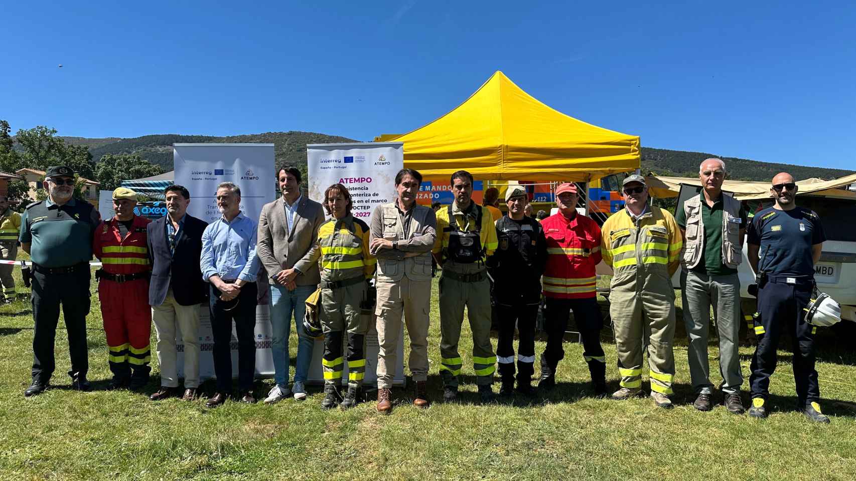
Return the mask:
{"type": "MultiPolygon", "coordinates": [[[[372,211],[377,205],[395,199],[395,174],[404,167],[404,144],[401,142],[366,142],[356,144],[306,144],[306,161],[309,179],[309,197],[324,203],[324,191],[334,184],[348,188],[354,207],[351,213],[371,224],[372,211]]],[[[366,384],[377,382],[377,328],[374,313],[366,334],[366,384]]],[[[404,384],[404,328],[402,326],[395,346],[398,365],[395,366],[394,384],[404,384]]],[[[312,350],[312,367],[309,380],[324,382],[321,359],[324,342],[316,341],[312,350]]],[[[345,372],[348,372],[346,363],[345,372]]],[[[342,376],[342,383],[348,376],[342,376]]]]}

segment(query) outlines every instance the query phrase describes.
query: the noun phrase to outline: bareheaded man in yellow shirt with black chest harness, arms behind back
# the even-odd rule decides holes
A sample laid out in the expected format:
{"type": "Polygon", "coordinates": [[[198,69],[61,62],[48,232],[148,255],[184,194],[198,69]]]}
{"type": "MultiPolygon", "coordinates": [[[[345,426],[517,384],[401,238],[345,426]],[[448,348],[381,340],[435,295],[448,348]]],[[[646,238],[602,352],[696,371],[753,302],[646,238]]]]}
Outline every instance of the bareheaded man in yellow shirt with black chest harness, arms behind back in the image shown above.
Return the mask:
{"type": "Polygon", "coordinates": [[[499,245],[496,226],[487,208],[477,205],[473,194],[473,175],[466,170],[452,174],[455,201],[437,212],[437,241],[434,256],[443,267],[440,278],[440,375],[443,400],[458,396],[461,354],[458,341],[464,321],[464,307],[473,331],[473,369],[482,402],[493,400],[493,373],[496,355],[490,345],[490,281],[486,258],[499,245]]]}

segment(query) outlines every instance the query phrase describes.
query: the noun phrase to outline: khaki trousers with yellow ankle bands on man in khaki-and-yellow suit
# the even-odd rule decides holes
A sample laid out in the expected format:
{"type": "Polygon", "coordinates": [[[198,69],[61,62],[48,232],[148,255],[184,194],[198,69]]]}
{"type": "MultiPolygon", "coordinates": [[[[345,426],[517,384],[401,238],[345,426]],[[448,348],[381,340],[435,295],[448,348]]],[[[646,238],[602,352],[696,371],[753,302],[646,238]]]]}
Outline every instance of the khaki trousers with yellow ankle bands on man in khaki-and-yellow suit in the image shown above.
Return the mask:
{"type": "Polygon", "coordinates": [[[633,273],[618,282],[614,278],[609,315],[614,323],[621,387],[642,386],[642,353],[647,344],[651,390],[670,395],[675,378],[675,290],[668,277],[658,277],[645,279],[644,284],[648,288],[657,285],[657,290],[638,288],[633,273]]]}

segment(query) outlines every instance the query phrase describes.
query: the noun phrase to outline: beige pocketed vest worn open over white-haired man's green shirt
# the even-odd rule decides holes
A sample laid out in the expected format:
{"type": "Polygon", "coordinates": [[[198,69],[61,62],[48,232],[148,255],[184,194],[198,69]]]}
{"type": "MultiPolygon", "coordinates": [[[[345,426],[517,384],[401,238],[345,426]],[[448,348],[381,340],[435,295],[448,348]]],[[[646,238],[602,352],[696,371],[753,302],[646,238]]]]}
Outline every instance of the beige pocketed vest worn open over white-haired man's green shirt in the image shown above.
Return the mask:
{"type": "MultiPolygon", "coordinates": [[[[687,227],[681,264],[685,269],[698,266],[698,262],[704,259],[704,218],[701,208],[701,196],[690,197],[684,202],[687,227]]],[[[740,201],[722,194],[722,264],[736,269],[741,261],[740,201]]]]}

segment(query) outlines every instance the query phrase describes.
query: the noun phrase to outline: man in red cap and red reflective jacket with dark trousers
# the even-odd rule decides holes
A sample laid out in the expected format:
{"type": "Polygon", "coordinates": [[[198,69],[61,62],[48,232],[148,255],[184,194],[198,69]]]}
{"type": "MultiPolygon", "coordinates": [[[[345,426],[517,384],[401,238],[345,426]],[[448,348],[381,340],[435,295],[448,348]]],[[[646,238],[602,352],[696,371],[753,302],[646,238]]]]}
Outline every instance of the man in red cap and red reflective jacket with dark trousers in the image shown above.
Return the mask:
{"type": "Polygon", "coordinates": [[[565,183],[556,188],[559,212],[541,221],[547,239],[547,266],[543,289],[546,297],[547,347],[541,355],[538,388],[556,385],[556,365],[565,356],[562,339],[570,311],[583,340],[583,358],[588,363],[596,396],[606,390],[606,359],[600,345],[603,318],[597,305],[595,266],[600,262],[600,227],[577,213],[577,186],[565,183]]]}

